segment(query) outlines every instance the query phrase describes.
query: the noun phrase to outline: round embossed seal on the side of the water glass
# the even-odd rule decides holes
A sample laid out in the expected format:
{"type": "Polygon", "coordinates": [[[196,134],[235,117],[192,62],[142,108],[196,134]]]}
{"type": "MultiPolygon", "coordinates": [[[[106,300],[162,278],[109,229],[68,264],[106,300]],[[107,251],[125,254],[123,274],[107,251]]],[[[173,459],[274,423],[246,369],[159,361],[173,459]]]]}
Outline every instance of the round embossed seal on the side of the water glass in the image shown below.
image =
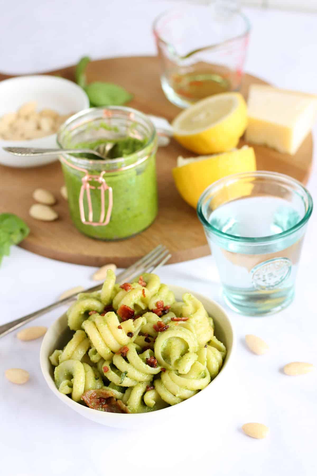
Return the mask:
{"type": "Polygon", "coordinates": [[[253,286],[256,289],[274,289],[288,278],[292,262],[288,258],[274,258],[263,261],[251,269],[253,286]]]}

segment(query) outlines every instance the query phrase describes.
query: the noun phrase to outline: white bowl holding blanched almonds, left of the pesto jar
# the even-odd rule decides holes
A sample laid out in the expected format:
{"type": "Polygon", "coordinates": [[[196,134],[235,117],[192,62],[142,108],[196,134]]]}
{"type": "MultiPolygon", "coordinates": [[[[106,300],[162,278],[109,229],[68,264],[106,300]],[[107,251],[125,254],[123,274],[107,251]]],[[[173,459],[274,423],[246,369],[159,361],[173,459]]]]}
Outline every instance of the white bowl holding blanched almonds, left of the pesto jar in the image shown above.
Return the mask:
{"type": "MultiPolygon", "coordinates": [[[[19,76],[0,81],[0,116],[15,112],[25,102],[37,101],[38,109],[54,109],[59,114],[79,112],[89,108],[85,91],[68,79],[56,76],[19,76]]],[[[57,156],[18,157],[2,150],[2,147],[58,148],[56,134],[30,140],[0,139],[0,163],[10,167],[37,167],[49,164],[57,156]]]]}

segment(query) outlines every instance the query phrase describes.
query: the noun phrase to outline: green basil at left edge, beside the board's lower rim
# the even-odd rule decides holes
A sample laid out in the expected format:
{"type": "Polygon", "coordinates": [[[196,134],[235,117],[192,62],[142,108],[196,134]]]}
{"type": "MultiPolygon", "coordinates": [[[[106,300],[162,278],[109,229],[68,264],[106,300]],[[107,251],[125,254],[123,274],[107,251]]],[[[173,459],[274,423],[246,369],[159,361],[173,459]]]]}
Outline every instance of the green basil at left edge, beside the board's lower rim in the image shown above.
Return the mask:
{"type": "Polygon", "coordinates": [[[17,245],[30,233],[30,228],[13,213],[0,214],[0,263],[3,256],[10,254],[10,246],[17,245]]]}

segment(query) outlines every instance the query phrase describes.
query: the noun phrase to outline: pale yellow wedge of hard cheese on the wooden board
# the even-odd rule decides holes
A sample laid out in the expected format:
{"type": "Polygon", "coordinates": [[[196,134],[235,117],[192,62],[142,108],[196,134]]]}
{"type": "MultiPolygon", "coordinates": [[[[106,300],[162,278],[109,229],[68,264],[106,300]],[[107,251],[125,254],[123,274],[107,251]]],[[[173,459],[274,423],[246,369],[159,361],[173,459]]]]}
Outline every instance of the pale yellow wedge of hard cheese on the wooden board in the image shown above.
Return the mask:
{"type": "Polygon", "coordinates": [[[317,118],[317,95],[252,84],[245,138],[295,154],[317,118]]]}

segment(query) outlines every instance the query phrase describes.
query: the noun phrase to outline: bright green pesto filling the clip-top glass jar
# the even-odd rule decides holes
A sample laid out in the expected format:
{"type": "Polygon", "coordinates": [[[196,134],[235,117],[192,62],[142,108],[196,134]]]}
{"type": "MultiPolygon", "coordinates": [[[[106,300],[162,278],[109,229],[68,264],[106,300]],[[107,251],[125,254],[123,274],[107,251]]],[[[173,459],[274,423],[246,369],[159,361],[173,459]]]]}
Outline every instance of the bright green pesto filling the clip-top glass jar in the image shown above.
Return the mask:
{"type": "MultiPolygon", "coordinates": [[[[68,191],[70,216],[76,228],[92,238],[104,240],[117,240],[128,238],[148,228],[154,221],[158,211],[155,151],[152,146],[146,146],[147,139],[139,140],[132,137],[108,140],[97,139],[76,144],[76,148],[95,149],[100,144],[114,143],[108,154],[108,159],[129,157],[144,149],[144,155],[149,155],[140,164],[130,169],[106,172],[104,178],[113,193],[113,207],[108,225],[92,226],[81,222],[79,213],[79,193],[82,186],[81,178],[84,173],[62,163],[65,184],[68,191]]],[[[76,154],[77,155],[77,154],[76,154]]],[[[85,154],[78,154],[81,158],[91,159],[85,154]]],[[[136,158],[137,161],[137,158],[136,158]]],[[[107,162],[109,162],[107,160],[107,162]]],[[[82,168],[85,168],[83,165],[82,168]]],[[[89,167],[89,175],[100,175],[100,166],[93,169],[89,167]]],[[[98,222],[101,212],[101,192],[96,180],[89,180],[89,184],[96,189],[90,189],[93,210],[93,221],[98,222]]],[[[88,220],[87,195],[84,195],[85,218],[88,220]]],[[[109,204],[109,192],[105,192],[105,211],[109,204]]]]}

